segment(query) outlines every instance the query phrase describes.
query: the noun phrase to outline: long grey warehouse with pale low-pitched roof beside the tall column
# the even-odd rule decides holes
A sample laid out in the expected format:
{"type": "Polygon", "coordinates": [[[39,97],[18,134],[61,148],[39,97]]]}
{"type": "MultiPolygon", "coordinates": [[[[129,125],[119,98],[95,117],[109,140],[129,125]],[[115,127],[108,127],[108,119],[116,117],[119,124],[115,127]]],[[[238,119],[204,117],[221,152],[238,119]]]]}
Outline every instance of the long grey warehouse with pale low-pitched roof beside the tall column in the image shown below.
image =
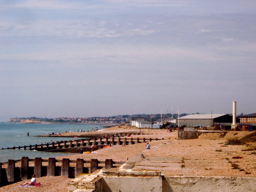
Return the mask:
{"type": "MultiPolygon", "coordinates": [[[[187,115],[176,119],[176,125],[188,127],[219,127],[221,129],[230,129],[233,122],[233,116],[228,114],[195,114],[187,115]]],[[[236,123],[240,119],[236,118],[236,123]]]]}

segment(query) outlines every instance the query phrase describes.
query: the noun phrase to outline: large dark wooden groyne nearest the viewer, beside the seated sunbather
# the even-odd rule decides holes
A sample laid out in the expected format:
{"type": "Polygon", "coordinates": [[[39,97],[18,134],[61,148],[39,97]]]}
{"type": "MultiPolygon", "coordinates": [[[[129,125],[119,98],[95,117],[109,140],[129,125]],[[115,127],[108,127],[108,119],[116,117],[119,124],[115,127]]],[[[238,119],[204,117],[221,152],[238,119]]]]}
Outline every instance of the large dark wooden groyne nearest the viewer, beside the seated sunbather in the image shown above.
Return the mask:
{"type": "Polygon", "coordinates": [[[54,157],[49,159],[42,159],[41,157],[29,159],[28,157],[22,157],[21,160],[8,160],[8,162],[0,163],[0,186],[30,179],[32,175],[36,177],[48,175],[74,178],[81,173],[92,173],[96,171],[99,169],[99,163],[105,163],[105,169],[111,169],[113,164],[123,164],[125,162],[113,161],[112,159],[99,161],[97,159],[56,160],[54,157]],[[29,161],[34,161],[33,167],[29,167],[29,161]],[[15,163],[17,162],[21,162],[21,167],[15,167],[15,163]],[[42,162],[48,162],[48,166],[42,166],[42,162]],[[57,162],[62,163],[61,166],[56,166],[57,162]],[[70,163],[76,163],[76,167],[70,166],[70,163]],[[90,163],[90,170],[84,167],[84,163],[90,163]],[[6,164],[8,165],[7,168],[2,168],[6,164]]]}

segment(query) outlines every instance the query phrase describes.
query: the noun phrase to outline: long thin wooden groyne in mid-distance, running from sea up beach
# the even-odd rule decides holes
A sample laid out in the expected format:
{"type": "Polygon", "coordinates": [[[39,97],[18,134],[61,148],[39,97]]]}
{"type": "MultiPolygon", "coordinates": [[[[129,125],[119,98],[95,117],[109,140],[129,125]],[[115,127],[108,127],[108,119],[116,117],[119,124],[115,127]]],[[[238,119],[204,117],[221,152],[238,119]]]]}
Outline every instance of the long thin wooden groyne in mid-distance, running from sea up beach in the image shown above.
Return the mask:
{"type": "MultiPolygon", "coordinates": [[[[121,133],[122,134],[122,133],[121,133]]],[[[37,150],[37,151],[47,151],[47,150],[51,150],[51,149],[61,149],[61,148],[72,148],[72,147],[84,147],[84,146],[90,146],[90,145],[108,145],[108,144],[112,144],[112,145],[128,145],[128,144],[135,144],[135,143],[145,143],[147,141],[151,142],[152,140],[158,140],[156,139],[133,139],[131,138],[117,138],[117,141],[115,141],[115,138],[105,138],[104,140],[102,139],[102,137],[99,138],[93,138],[93,140],[91,139],[81,139],[81,140],[75,140],[75,141],[57,141],[57,142],[52,142],[52,143],[46,143],[46,144],[41,144],[41,145],[29,145],[29,146],[23,146],[23,147],[12,147],[12,148],[2,148],[2,149],[21,149],[24,148],[24,150],[29,149],[29,150],[37,150]],[[80,143],[81,142],[81,143],[80,143]]]]}

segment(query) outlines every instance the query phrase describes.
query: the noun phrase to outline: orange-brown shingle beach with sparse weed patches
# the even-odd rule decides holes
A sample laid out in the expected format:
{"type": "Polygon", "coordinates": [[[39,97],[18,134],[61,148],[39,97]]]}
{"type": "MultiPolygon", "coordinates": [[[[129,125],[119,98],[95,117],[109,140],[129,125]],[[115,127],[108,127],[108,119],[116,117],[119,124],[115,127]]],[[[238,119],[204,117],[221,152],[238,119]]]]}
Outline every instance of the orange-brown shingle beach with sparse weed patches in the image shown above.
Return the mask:
{"type": "MultiPolygon", "coordinates": [[[[108,128],[107,130],[124,130],[123,127],[108,128]]],[[[106,131],[107,131],[106,130],[106,131]]],[[[75,133],[74,133],[75,134],[75,133]]],[[[256,176],[256,151],[246,151],[248,149],[255,149],[256,143],[250,142],[250,138],[242,145],[225,145],[230,139],[241,139],[252,134],[249,131],[227,131],[223,136],[220,133],[204,133],[197,139],[192,140],[177,140],[177,131],[172,133],[166,130],[146,131],[142,129],[142,134],[133,135],[132,138],[164,138],[165,140],[151,141],[151,149],[145,150],[145,143],[138,143],[134,145],[113,145],[113,147],[102,148],[97,150],[96,154],[73,154],[67,156],[56,157],[56,159],[69,158],[76,160],[82,158],[84,160],[90,159],[112,159],[113,161],[126,161],[128,158],[137,153],[143,153],[145,157],[169,157],[181,158],[183,161],[182,169],[179,170],[163,170],[164,175],[173,176],[242,176],[255,177],[256,176]],[[243,151],[245,150],[245,151],[243,151]],[[234,166],[236,165],[236,166],[234,166]]],[[[32,162],[30,162],[32,163],[32,162]]],[[[16,166],[19,166],[17,163],[16,166]]],[[[70,163],[70,166],[72,163],[70,163]]],[[[90,166],[85,163],[84,166],[90,166]]],[[[101,165],[104,166],[104,165],[101,165]]],[[[67,190],[68,178],[55,177],[54,180],[48,180],[49,177],[38,178],[43,186],[36,187],[33,191],[51,191],[52,184],[60,186],[62,190],[67,190]],[[38,189],[39,188],[39,189],[38,189]]],[[[22,182],[14,183],[9,186],[3,186],[0,191],[29,191],[26,189],[17,189],[22,182]]],[[[34,187],[32,187],[34,188],[34,187]]],[[[56,191],[56,190],[55,190],[56,191]]]]}

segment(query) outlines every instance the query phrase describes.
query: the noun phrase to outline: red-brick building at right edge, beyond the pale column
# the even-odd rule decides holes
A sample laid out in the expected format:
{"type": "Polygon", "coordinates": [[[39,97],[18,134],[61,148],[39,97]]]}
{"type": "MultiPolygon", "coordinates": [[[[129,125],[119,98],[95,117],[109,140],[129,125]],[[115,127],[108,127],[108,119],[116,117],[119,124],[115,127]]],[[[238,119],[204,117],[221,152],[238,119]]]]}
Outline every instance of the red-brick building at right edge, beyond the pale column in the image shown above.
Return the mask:
{"type": "Polygon", "coordinates": [[[256,113],[238,116],[242,130],[256,131],[256,113]]]}

